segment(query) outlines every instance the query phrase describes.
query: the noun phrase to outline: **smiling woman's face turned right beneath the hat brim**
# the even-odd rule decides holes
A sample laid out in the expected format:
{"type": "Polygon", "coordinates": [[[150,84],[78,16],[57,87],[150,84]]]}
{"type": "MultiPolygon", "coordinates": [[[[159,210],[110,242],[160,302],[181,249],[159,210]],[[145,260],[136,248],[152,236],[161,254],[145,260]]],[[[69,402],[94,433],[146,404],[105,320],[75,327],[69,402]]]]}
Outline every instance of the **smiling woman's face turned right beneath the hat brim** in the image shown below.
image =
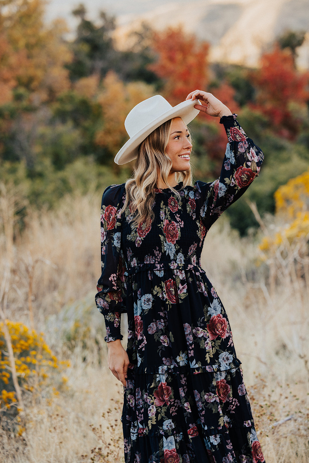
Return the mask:
{"type": "Polygon", "coordinates": [[[190,168],[191,150],[189,131],[183,119],[177,117],[172,121],[169,143],[166,148],[166,154],[170,156],[173,163],[170,173],[183,172],[190,168]]]}

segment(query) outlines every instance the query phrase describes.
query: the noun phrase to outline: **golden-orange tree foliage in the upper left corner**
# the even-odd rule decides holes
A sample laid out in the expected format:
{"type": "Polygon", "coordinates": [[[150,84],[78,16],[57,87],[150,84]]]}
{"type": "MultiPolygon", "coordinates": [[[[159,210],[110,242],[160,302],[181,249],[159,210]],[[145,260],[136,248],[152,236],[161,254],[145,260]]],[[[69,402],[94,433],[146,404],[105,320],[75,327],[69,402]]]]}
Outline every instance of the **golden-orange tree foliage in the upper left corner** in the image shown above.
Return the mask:
{"type": "Polygon", "coordinates": [[[5,8],[0,7],[0,33],[19,63],[18,67],[7,66],[7,72],[12,71],[11,88],[18,83],[34,93],[32,100],[37,103],[68,90],[69,71],[64,65],[72,56],[62,41],[62,34],[67,31],[64,22],[57,20],[50,27],[45,26],[42,0],[7,0],[5,3],[5,8]]]}

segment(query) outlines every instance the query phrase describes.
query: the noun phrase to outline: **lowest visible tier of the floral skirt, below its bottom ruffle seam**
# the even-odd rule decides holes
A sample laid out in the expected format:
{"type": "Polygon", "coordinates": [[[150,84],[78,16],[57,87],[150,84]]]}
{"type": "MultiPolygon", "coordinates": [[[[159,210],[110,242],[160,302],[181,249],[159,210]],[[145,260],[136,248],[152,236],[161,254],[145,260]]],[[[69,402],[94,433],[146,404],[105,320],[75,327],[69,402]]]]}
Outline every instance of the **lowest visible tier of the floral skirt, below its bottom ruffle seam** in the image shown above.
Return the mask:
{"type": "Polygon", "coordinates": [[[126,463],[264,463],[252,423],[207,433],[195,426],[191,434],[143,434],[135,425],[123,426],[126,463]]]}

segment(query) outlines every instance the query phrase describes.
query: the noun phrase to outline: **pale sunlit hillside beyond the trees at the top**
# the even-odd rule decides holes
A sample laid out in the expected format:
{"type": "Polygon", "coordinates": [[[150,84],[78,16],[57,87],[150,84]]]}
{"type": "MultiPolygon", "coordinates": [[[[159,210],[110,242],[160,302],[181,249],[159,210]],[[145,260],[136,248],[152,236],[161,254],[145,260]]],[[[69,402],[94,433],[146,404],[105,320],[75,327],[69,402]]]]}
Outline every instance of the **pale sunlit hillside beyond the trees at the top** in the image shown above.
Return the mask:
{"type": "MultiPolygon", "coordinates": [[[[198,0],[167,2],[141,13],[120,14],[116,37],[121,47],[142,21],[156,29],[182,24],[213,46],[210,60],[255,66],[261,51],[286,29],[309,31],[308,0],[198,0]]],[[[160,3],[160,2],[158,2],[160,3]]],[[[309,68],[309,34],[298,50],[298,66],[309,68]]]]}

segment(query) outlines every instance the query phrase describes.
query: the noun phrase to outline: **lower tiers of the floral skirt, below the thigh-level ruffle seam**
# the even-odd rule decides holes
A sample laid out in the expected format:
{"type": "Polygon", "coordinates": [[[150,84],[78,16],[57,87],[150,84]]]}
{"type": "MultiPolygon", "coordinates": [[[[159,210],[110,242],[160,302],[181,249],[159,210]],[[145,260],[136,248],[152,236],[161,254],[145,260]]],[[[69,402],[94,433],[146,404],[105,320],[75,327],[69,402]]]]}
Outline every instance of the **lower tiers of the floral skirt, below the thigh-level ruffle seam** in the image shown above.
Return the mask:
{"type": "Polygon", "coordinates": [[[121,421],[126,463],[265,462],[240,365],[132,365],[121,421]]]}

